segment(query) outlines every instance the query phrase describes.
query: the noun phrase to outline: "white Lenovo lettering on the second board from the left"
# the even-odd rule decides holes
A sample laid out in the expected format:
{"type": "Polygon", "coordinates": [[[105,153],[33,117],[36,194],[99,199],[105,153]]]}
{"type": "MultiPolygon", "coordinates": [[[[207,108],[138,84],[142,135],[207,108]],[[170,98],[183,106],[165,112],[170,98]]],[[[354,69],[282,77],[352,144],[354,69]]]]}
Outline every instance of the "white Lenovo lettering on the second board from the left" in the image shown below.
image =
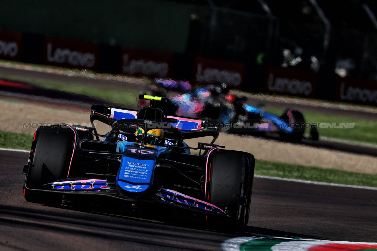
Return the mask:
{"type": "Polygon", "coordinates": [[[58,64],[70,64],[74,66],[93,67],[95,64],[95,55],[92,53],[81,53],[69,49],[57,48],[52,53],[52,44],[47,44],[47,61],[58,64]]]}

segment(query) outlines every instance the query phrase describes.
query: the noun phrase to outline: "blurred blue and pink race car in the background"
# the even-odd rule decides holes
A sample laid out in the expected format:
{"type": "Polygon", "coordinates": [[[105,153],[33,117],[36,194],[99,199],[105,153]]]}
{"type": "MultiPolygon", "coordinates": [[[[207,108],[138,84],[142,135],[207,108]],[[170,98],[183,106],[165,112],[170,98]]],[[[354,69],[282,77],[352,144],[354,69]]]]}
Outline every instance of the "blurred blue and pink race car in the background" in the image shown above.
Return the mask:
{"type": "Polygon", "coordinates": [[[305,130],[311,140],[319,138],[317,128],[306,124],[300,111],[287,108],[280,116],[268,113],[250,105],[246,96],[230,93],[224,83],[193,88],[188,81],[154,79],[144,93],[169,97],[169,103],[160,107],[167,114],[202,119],[207,128],[253,136],[272,132],[279,134],[281,140],[296,143],[304,138],[305,130]]]}

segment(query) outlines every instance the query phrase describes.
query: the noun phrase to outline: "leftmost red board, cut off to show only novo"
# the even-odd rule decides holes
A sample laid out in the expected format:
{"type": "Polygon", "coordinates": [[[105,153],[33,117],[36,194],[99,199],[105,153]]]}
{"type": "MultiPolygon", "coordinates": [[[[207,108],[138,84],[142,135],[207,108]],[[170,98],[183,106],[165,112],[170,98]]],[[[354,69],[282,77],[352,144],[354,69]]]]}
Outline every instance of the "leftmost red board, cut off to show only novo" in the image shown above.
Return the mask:
{"type": "Polygon", "coordinates": [[[0,30],[0,58],[21,61],[22,33],[0,30]]]}

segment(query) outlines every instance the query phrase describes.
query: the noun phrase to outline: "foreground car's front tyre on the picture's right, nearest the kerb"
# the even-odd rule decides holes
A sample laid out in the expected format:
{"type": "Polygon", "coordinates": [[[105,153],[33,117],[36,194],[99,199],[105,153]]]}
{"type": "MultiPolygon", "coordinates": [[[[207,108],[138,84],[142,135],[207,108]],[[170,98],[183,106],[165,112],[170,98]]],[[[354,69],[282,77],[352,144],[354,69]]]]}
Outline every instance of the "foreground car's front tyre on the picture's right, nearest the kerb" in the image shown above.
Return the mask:
{"type": "Polygon", "coordinates": [[[241,231],[250,213],[254,177],[254,156],[246,152],[219,150],[211,156],[208,199],[229,217],[208,215],[208,227],[221,231],[241,231]]]}

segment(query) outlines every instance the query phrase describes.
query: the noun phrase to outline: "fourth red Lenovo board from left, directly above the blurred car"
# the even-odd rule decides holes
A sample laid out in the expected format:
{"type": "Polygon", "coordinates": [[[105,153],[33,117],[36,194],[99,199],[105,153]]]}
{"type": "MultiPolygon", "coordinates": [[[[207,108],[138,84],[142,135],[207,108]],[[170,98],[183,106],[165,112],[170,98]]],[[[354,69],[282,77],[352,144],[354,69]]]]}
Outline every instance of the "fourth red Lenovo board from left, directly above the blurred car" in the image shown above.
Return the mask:
{"type": "Polygon", "coordinates": [[[227,62],[197,57],[194,60],[194,80],[196,84],[225,83],[231,88],[242,89],[244,86],[246,64],[227,62]]]}

